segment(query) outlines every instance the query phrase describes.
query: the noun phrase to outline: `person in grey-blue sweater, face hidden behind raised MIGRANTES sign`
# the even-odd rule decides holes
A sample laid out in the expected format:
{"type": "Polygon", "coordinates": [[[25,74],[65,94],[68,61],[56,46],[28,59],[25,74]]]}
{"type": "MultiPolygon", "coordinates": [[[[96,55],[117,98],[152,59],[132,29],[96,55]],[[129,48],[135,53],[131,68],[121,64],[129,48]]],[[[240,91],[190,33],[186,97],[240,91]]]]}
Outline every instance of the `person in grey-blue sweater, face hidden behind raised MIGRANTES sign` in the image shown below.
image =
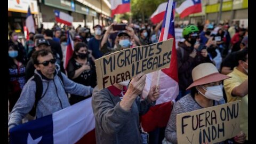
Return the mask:
{"type": "Polygon", "coordinates": [[[95,117],[96,141],[101,144],[142,143],[139,129],[139,115],[146,114],[159,97],[159,87],[151,87],[148,97],[141,94],[146,83],[146,75],[138,74],[129,81],[116,83],[92,95],[95,117]]]}

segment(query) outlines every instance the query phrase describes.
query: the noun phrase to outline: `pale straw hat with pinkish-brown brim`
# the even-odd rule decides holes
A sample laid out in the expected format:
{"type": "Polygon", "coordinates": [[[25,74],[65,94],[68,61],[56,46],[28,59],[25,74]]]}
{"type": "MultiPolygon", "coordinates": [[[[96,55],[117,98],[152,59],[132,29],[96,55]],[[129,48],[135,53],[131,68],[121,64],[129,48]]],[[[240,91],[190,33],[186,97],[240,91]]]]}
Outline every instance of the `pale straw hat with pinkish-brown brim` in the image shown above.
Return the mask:
{"type": "Polygon", "coordinates": [[[230,76],[220,74],[212,63],[201,63],[192,70],[193,83],[188,89],[197,85],[209,84],[230,78],[230,76]]]}

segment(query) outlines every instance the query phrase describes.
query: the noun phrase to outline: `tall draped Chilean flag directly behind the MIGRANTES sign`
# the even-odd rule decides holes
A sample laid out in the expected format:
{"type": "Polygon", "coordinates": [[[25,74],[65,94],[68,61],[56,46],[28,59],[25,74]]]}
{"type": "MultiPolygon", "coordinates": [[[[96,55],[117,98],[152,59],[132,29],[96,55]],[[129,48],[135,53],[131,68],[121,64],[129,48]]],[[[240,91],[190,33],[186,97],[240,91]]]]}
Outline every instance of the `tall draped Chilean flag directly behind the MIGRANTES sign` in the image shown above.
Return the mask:
{"type": "MultiPolygon", "coordinates": [[[[174,5],[175,3],[173,3],[173,0],[169,0],[167,3],[159,42],[166,41],[170,38],[175,38],[174,5]]],[[[146,132],[153,131],[157,127],[165,127],[167,125],[172,111],[172,101],[174,101],[179,94],[175,39],[172,45],[170,68],[162,69],[159,71],[159,73],[160,97],[156,101],[156,106],[150,107],[148,113],[141,117],[141,125],[143,130],[146,132]]],[[[154,82],[157,81],[157,76],[158,71],[147,75],[146,85],[142,92],[143,98],[148,95],[150,86],[155,85],[154,82]]]]}

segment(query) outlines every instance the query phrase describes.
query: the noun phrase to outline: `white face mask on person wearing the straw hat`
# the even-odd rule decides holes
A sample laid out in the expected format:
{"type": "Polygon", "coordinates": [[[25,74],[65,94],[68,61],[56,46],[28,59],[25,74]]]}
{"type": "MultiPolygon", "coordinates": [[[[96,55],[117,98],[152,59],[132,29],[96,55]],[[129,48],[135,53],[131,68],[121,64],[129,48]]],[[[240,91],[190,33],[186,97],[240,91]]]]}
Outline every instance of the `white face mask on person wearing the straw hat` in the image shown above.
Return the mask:
{"type": "Polygon", "coordinates": [[[201,87],[206,91],[205,94],[203,94],[199,90],[197,91],[202,95],[204,95],[205,98],[216,100],[216,101],[220,101],[223,98],[222,85],[209,86],[209,87],[201,86],[201,87]]]}

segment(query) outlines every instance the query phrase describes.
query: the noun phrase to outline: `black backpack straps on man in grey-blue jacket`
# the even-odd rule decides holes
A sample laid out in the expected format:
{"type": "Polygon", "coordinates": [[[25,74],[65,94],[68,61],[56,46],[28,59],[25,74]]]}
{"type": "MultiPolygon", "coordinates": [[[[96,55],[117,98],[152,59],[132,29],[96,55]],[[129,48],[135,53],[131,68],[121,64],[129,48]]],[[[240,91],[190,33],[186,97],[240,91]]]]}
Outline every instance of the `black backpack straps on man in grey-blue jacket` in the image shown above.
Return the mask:
{"type": "MultiPolygon", "coordinates": [[[[58,72],[57,75],[60,77],[62,83],[63,83],[63,77],[61,75],[61,72],[58,72]]],[[[44,97],[44,94],[43,94],[43,82],[42,82],[42,79],[39,75],[35,74],[34,75],[34,78],[32,79],[32,81],[35,81],[36,82],[36,94],[35,94],[35,103],[34,103],[34,106],[33,108],[29,111],[29,115],[31,116],[36,116],[36,106],[37,106],[37,103],[38,101],[44,97]],[[42,95],[43,94],[43,95],[42,95]]],[[[64,83],[63,83],[64,84],[64,83]]]]}

